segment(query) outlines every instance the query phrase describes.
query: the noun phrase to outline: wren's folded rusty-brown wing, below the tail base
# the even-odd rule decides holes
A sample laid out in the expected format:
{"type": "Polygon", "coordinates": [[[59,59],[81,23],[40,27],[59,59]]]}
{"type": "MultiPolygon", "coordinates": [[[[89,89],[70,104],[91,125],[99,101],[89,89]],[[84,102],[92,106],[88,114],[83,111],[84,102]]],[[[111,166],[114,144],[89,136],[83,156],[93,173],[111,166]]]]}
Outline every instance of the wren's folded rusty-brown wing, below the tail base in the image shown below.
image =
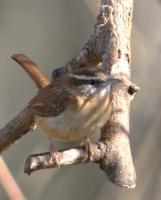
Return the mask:
{"type": "Polygon", "coordinates": [[[64,111],[74,98],[68,91],[68,86],[62,83],[51,83],[30,101],[29,110],[33,115],[41,117],[57,116],[64,111]]]}

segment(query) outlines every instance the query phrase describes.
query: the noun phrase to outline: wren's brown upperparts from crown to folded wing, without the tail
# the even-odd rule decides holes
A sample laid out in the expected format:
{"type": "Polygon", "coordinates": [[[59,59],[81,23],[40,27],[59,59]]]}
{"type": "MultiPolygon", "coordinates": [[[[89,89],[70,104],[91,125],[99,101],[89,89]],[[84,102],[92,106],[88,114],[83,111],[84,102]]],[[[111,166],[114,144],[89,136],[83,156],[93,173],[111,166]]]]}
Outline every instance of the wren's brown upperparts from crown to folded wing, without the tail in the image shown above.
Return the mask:
{"type": "Polygon", "coordinates": [[[82,94],[77,87],[88,84],[91,80],[78,79],[72,77],[87,76],[97,77],[96,82],[104,81],[107,79],[105,73],[102,70],[98,70],[97,67],[84,68],[75,70],[72,74],[66,74],[52,81],[44,89],[40,90],[38,94],[30,101],[29,109],[34,115],[39,116],[57,116],[61,113],[69,104],[79,104],[79,101],[86,100],[86,94],[82,94]]]}

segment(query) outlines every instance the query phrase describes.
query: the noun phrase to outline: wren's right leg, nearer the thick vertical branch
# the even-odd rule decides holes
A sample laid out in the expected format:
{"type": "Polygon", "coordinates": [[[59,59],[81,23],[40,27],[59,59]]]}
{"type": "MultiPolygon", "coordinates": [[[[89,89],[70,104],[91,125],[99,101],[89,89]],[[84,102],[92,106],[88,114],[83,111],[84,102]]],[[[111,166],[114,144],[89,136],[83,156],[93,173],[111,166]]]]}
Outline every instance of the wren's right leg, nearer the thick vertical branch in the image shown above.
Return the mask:
{"type": "Polygon", "coordinates": [[[85,148],[85,152],[86,152],[86,155],[87,155],[87,160],[89,162],[92,161],[92,158],[93,158],[93,151],[92,151],[92,142],[91,140],[88,138],[88,137],[85,137],[83,142],[81,143],[82,146],[84,146],[85,148]]]}

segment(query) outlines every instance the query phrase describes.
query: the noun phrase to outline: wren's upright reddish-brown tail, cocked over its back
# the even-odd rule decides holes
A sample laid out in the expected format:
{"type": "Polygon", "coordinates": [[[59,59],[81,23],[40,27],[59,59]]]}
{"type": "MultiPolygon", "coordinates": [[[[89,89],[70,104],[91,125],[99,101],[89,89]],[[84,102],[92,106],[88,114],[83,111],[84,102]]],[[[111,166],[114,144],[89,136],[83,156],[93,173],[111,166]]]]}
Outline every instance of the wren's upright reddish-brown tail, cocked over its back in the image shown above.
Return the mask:
{"type": "Polygon", "coordinates": [[[27,74],[34,81],[39,90],[50,84],[50,80],[47,76],[40,70],[40,68],[26,55],[15,54],[12,56],[17,63],[19,63],[27,74]]]}

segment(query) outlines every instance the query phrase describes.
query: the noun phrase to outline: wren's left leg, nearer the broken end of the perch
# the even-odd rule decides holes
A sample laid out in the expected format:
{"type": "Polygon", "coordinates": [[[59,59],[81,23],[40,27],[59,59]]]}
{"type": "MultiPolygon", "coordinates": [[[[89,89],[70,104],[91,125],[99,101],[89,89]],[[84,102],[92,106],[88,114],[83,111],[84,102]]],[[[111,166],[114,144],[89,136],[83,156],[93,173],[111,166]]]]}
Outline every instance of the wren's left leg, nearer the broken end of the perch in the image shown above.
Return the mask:
{"type": "Polygon", "coordinates": [[[52,139],[50,137],[48,138],[48,143],[49,143],[49,152],[50,152],[49,162],[54,162],[56,166],[59,166],[60,153],[55,149],[52,143],[52,139]]]}

